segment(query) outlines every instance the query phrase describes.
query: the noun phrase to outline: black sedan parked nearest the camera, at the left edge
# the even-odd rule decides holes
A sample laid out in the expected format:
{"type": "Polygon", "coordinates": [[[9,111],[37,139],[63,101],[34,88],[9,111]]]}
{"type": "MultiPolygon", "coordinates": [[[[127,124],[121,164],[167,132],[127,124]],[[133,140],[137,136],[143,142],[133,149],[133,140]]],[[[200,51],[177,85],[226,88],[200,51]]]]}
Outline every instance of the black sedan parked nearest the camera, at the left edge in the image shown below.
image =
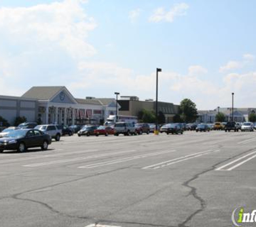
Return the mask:
{"type": "Polygon", "coordinates": [[[51,144],[51,137],[37,129],[18,129],[13,130],[8,136],[0,139],[0,152],[4,150],[17,150],[24,152],[27,148],[41,147],[41,150],[47,150],[51,144]]]}

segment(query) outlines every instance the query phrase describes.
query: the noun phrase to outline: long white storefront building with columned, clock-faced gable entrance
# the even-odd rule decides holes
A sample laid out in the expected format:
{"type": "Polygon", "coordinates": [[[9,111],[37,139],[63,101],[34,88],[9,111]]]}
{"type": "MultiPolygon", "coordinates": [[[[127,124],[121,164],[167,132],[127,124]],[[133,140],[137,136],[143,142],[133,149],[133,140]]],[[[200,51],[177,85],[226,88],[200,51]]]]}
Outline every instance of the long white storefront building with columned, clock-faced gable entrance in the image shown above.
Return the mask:
{"type": "Polygon", "coordinates": [[[0,116],[11,125],[19,116],[41,124],[100,124],[115,114],[114,98],[75,98],[64,86],[32,87],[21,97],[0,96],[0,116]]]}

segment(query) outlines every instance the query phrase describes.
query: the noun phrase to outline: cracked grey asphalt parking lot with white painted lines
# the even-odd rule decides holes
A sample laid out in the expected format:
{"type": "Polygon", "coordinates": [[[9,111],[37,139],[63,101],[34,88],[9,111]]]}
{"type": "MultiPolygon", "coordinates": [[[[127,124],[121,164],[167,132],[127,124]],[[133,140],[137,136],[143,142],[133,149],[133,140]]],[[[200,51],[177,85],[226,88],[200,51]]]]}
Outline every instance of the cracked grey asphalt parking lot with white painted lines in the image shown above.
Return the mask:
{"type": "Polygon", "coordinates": [[[234,209],[256,209],[255,157],[256,132],[224,131],[4,152],[0,226],[232,226],[234,209]]]}

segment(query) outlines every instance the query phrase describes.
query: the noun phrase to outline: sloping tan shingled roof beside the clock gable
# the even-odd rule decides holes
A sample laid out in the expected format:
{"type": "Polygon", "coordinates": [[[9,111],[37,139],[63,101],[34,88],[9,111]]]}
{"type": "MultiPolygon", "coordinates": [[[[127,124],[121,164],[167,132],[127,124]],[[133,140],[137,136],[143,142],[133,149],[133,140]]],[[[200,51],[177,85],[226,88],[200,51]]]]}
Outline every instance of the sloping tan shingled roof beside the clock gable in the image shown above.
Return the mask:
{"type": "Polygon", "coordinates": [[[25,94],[23,98],[36,98],[37,100],[50,100],[56,95],[64,86],[53,86],[53,87],[32,87],[25,94]]]}

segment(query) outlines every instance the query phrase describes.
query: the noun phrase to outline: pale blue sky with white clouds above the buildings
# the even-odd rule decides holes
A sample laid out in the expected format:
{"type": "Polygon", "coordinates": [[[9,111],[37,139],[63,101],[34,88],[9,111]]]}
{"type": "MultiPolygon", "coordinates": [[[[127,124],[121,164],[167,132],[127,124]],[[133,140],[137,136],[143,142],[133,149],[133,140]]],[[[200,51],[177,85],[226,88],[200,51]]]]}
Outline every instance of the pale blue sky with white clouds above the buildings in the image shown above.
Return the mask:
{"type": "Polygon", "coordinates": [[[256,2],[0,0],[1,95],[66,86],[198,109],[255,107],[256,2]]]}

